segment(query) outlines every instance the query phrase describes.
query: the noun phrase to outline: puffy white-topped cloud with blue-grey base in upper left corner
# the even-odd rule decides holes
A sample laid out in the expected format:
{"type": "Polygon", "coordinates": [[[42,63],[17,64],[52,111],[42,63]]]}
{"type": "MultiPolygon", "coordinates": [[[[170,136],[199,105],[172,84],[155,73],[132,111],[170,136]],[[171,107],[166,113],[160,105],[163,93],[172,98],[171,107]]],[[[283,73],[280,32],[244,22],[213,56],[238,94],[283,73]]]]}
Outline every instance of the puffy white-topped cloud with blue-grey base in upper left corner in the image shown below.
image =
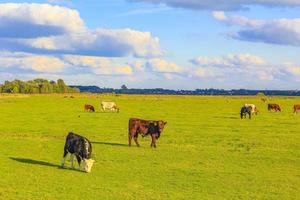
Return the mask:
{"type": "Polygon", "coordinates": [[[0,37],[35,38],[85,30],[76,10],[48,4],[0,4],[0,37]]]}

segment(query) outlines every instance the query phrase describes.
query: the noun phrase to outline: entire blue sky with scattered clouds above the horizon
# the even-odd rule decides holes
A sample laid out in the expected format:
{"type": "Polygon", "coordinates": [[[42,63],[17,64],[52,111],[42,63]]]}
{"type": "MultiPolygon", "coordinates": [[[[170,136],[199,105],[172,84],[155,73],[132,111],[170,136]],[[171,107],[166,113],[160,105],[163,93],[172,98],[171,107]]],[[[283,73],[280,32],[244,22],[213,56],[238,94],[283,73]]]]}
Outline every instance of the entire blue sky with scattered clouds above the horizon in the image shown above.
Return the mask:
{"type": "Polygon", "coordinates": [[[0,82],[300,86],[299,0],[0,0],[0,82]]]}

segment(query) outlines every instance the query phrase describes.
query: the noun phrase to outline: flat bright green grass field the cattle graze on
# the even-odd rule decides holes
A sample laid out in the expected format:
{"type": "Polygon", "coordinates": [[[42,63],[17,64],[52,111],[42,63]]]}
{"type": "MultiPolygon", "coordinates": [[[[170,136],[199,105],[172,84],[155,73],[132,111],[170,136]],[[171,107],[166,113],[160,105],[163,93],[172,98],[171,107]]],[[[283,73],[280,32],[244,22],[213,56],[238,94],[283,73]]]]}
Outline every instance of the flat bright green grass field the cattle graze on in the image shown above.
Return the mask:
{"type": "Polygon", "coordinates": [[[2,96],[0,199],[300,199],[300,98],[269,102],[283,112],[258,97],[2,96]],[[244,103],[259,115],[241,120],[244,103]],[[168,122],[157,149],[127,146],[130,117],[168,122]],[[69,131],[92,141],[91,173],[59,168],[69,131]]]}

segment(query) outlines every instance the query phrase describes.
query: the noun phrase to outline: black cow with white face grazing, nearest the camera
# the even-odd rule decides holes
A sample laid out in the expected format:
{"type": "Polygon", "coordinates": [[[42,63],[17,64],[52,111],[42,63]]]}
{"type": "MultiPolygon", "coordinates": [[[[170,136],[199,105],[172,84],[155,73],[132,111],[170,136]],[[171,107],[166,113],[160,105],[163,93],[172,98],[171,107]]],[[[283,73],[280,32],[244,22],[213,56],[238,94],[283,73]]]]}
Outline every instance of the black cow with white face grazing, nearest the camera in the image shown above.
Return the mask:
{"type": "Polygon", "coordinates": [[[83,161],[83,170],[85,172],[91,172],[94,160],[91,159],[92,145],[88,139],[70,132],[67,135],[66,143],[64,147],[64,156],[61,163],[61,167],[64,167],[67,154],[71,154],[71,166],[74,169],[74,155],[78,161],[78,169],[81,170],[80,164],[83,161]]]}

